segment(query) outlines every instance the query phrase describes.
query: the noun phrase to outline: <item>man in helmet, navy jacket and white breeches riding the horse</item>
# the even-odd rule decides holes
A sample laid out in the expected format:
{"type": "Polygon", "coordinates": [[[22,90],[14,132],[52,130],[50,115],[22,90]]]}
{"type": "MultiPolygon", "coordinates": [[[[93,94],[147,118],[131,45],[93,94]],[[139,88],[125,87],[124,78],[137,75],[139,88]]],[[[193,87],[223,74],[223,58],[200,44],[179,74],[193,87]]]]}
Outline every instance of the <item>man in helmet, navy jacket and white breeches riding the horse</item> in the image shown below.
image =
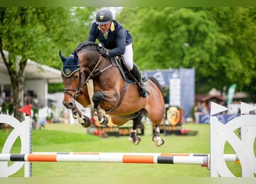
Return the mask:
{"type": "Polygon", "coordinates": [[[126,66],[140,84],[140,95],[146,98],[149,95],[147,86],[142,81],[139,68],[133,62],[132,36],[119,22],[113,20],[112,11],[109,9],[100,9],[91,25],[87,40],[95,42],[96,39],[102,45],[99,47],[102,56],[123,56],[126,66]]]}

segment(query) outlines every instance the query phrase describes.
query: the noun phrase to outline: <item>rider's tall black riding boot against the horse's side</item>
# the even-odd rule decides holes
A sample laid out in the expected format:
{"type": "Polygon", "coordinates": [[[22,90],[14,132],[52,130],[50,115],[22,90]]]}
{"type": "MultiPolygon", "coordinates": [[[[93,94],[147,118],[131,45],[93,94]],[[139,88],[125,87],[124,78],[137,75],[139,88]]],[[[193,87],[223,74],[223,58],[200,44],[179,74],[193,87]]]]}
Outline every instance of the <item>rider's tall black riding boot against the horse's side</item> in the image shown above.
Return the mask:
{"type": "Polygon", "coordinates": [[[140,74],[139,68],[133,63],[133,68],[131,74],[136,78],[136,80],[140,83],[139,85],[139,92],[143,98],[146,98],[150,93],[148,92],[147,86],[142,82],[142,74],[140,74]]]}

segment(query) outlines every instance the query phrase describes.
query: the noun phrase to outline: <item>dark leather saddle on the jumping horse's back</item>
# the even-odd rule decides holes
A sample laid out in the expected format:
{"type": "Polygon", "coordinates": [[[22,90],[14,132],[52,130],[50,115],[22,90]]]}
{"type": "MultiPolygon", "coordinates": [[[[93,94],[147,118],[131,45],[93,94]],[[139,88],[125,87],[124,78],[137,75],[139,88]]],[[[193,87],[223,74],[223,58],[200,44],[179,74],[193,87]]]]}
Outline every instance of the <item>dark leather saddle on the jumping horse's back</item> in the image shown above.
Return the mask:
{"type": "MultiPolygon", "coordinates": [[[[135,77],[131,74],[131,72],[129,71],[127,65],[124,63],[124,58],[123,56],[116,56],[116,57],[112,57],[110,58],[111,63],[113,64],[113,66],[118,67],[123,78],[124,81],[128,82],[129,84],[135,85],[136,84],[136,79],[135,77]]],[[[146,82],[147,81],[147,76],[142,74],[142,81],[146,82]]]]}

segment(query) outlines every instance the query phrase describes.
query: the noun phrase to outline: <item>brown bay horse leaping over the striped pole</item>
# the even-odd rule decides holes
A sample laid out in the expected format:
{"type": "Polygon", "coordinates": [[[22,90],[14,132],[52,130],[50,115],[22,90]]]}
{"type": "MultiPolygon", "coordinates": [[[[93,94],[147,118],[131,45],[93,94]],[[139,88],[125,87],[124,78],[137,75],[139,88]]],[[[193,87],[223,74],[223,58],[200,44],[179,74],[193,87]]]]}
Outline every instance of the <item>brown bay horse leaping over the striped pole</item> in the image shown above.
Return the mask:
{"type": "Polygon", "coordinates": [[[165,143],[159,129],[165,121],[165,104],[161,86],[153,76],[148,76],[145,81],[150,95],[143,98],[136,82],[127,79],[127,73],[122,73],[118,62],[100,55],[97,43],[85,41],[75,48],[72,55],[64,57],[61,51],[59,55],[63,62],[63,105],[72,110],[73,117],[83,127],[89,127],[91,120],[79,112],[76,101],[85,108],[91,105],[94,119],[102,125],[108,124],[105,114],[117,126],[132,120],[129,141],[135,145],[141,140],[136,135],[136,128],[143,126],[141,120],[146,116],[154,124],[152,141],[157,147],[165,143]]]}

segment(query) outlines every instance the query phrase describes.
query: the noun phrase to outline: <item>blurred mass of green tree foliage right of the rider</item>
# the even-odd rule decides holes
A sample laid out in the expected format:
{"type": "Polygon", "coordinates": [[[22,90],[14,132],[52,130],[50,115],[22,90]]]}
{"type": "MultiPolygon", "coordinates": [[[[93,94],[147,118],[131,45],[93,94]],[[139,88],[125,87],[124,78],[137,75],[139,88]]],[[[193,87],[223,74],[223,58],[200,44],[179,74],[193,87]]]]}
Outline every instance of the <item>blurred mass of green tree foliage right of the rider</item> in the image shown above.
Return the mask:
{"type": "Polygon", "coordinates": [[[142,70],[193,67],[196,93],[237,83],[255,94],[255,7],[124,7],[117,18],[142,70]]]}

